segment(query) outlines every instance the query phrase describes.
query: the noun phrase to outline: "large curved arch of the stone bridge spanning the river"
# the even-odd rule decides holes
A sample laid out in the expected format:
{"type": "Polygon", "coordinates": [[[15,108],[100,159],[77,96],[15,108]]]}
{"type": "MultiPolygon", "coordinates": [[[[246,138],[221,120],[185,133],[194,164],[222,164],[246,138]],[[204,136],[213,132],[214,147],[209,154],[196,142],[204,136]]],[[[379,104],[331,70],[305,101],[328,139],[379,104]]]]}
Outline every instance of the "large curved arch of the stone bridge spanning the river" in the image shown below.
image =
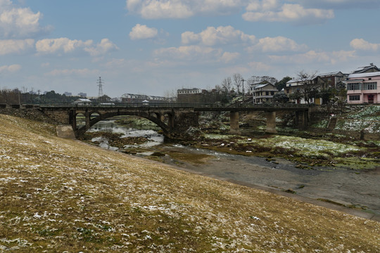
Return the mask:
{"type": "MultiPolygon", "coordinates": [[[[81,112],[77,113],[80,114],[81,112]]],[[[76,136],[80,137],[83,136],[83,134],[91,128],[91,126],[94,126],[94,124],[100,122],[104,119],[109,119],[111,117],[120,116],[120,115],[127,115],[127,116],[138,116],[143,117],[145,119],[150,120],[151,122],[155,123],[160,127],[160,129],[163,129],[163,134],[165,136],[168,136],[170,134],[170,129],[172,129],[171,126],[168,126],[161,120],[161,114],[158,112],[154,113],[148,113],[148,112],[99,112],[99,111],[91,111],[85,113],[86,118],[86,124],[84,126],[80,126],[79,128],[75,129],[76,136]],[[96,117],[91,117],[91,115],[97,114],[96,117]]]]}

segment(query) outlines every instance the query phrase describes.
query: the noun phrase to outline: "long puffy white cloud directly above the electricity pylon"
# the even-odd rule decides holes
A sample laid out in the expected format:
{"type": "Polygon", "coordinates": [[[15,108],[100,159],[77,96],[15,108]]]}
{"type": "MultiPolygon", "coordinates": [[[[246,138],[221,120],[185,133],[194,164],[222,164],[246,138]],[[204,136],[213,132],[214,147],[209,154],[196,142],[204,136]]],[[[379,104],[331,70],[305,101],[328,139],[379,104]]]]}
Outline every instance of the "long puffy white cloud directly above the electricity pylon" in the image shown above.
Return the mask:
{"type": "Polygon", "coordinates": [[[118,46],[113,44],[109,39],[102,39],[96,46],[92,46],[92,44],[92,40],[82,41],[68,38],[42,39],[37,41],[36,49],[38,53],[42,54],[71,53],[75,50],[82,49],[91,56],[99,56],[118,49],[118,46]]]}

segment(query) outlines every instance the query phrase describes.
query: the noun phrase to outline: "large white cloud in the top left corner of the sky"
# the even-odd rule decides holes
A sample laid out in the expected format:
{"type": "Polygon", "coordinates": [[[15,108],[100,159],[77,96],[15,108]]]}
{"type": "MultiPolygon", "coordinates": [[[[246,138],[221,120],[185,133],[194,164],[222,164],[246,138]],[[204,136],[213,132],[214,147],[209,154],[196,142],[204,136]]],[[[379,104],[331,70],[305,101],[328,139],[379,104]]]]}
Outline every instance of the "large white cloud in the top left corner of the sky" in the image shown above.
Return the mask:
{"type": "Polygon", "coordinates": [[[16,8],[12,1],[0,1],[0,34],[1,37],[30,37],[46,32],[49,27],[40,27],[42,14],[34,13],[30,8],[16,8]]]}

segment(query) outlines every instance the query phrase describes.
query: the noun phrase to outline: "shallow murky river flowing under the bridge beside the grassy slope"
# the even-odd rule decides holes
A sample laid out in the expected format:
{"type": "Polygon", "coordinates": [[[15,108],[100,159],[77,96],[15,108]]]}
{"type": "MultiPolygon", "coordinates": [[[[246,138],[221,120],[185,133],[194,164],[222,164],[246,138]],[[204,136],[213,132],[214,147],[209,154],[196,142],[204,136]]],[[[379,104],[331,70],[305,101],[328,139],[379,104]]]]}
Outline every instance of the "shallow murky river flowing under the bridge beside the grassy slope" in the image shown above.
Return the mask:
{"type": "MultiPolygon", "coordinates": [[[[99,122],[89,131],[113,131],[123,134],[123,137],[146,136],[149,139],[147,143],[131,145],[148,148],[148,152],[137,153],[137,155],[151,155],[153,149],[166,154],[163,162],[198,174],[213,175],[237,183],[288,191],[303,197],[335,202],[380,215],[380,169],[369,171],[334,167],[299,169],[295,162],[277,157],[268,160],[265,157],[230,155],[213,150],[165,143],[164,137],[157,134],[156,131],[118,126],[112,120],[99,122]],[[208,155],[208,159],[205,162],[194,164],[183,160],[178,161],[167,155],[170,153],[208,155]]],[[[99,141],[99,139],[93,141],[99,141]]],[[[110,147],[106,139],[101,141],[101,146],[110,150],[118,150],[118,148],[110,147]]]]}

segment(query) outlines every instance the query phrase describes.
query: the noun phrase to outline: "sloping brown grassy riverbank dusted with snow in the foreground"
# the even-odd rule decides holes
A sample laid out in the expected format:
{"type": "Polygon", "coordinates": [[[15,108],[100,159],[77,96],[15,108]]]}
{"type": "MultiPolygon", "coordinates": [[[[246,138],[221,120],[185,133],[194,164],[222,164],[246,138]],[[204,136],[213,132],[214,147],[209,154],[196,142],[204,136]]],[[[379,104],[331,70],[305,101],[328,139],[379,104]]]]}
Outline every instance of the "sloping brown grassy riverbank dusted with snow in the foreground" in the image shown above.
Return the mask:
{"type": "Polygon", "coordinates": [[[380,223],[0,115],[1,252],[380,252],[380,223]]]}

